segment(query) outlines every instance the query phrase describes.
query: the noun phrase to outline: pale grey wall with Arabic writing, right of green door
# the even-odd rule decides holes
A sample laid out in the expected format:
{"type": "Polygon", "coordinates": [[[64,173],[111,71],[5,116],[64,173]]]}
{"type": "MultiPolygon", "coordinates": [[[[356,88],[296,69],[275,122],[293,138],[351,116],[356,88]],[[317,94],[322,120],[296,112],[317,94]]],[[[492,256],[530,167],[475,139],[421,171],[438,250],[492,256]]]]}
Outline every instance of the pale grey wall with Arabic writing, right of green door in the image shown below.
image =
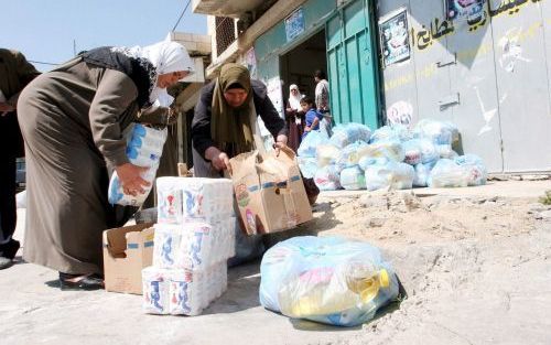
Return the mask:
{"type": "Polygon", "coordinates": [[[451,120],[489,171],[551,171],[551,0],[454,19],[446,0],[377,2],[379,20],[406,8],[410,30],[410,58],[381,72],[389,121],[451,120]]]}

